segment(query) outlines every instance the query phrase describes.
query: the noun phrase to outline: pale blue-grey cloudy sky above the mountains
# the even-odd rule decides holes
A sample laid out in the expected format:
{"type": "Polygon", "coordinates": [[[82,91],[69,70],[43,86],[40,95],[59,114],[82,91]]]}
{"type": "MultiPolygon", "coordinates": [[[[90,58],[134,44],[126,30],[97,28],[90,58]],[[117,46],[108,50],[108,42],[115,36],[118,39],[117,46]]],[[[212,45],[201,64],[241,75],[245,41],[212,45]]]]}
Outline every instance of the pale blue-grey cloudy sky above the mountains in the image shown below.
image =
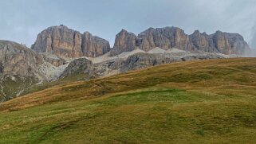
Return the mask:
{"type": "Polygon", "coordinates": [[[255,16],[256,0],[0,0],[0,39],[30,46],[37,33],[63,24],[113,45],[120,29],[174,25],[187,34],[241,33],[256,48],[255,16]]]}

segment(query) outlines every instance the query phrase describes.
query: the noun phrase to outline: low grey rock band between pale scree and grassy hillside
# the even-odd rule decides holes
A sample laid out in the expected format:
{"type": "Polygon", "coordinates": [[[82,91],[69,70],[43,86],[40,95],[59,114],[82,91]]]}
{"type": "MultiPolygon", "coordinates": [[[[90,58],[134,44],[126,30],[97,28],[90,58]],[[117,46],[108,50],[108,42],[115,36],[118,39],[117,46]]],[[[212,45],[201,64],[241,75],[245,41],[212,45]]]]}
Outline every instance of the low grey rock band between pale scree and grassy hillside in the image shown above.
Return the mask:
{"type": "Polygon", "coordinates": [[[224,58],[215,53],[135,53],[128,57],[113,58],[100,63],[93,63],[86,58],[73,60],[61,75],[61,78],[72,77],[77,80],[89,80],[101,76],[112,76],[130,70],[148,68],[160,64],[170,64],[175,61],[207,60],[224,58]]]}

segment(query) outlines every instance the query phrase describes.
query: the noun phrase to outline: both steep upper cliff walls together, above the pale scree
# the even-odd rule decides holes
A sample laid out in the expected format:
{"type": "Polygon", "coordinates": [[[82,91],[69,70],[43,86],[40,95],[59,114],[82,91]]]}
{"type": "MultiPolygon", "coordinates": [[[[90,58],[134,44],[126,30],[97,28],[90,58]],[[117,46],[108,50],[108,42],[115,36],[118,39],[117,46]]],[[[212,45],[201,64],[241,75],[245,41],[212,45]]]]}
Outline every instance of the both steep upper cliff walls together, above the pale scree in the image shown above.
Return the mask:
{"type": "Polygon", "coordinates": [[[65,25],[53,26],[38,34],[31,49],[38,53],[53,53],[57,56],[77,58],[81,56],[96,57],[110,52],[116,56],[134,49],[149,51],[161,49],[181,49],[186,51],[203,51],[208,53],[238,54],[245,53],[249,46],[238,33],[216,33],[208,35],[195,30],[191,35],[177,27],[149,28],[138,36],[122,29],[116,34],[113,49],[109,42],[95,37],[89,32],[81,34],[65,25]]]}

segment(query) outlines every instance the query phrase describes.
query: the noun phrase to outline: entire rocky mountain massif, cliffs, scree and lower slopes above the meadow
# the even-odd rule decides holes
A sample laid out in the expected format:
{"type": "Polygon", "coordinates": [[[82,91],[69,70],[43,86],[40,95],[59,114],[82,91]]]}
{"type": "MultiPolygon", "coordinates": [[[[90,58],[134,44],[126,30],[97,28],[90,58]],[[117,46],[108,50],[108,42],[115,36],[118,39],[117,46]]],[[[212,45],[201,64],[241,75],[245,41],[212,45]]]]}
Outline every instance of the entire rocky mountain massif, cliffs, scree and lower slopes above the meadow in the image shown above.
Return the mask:
{"type": "Polygon", "coordinates": [[[89,80],[175,61],[242,56],[249,49],[237,33],[196,30],[187,35],[177,27],[149,28],[138,35],[122,29],[110,48],[108,41],[89,32],[53,26],[37,35],[31,49],[0,41],[0,100],[69,76],[89,80]]]}

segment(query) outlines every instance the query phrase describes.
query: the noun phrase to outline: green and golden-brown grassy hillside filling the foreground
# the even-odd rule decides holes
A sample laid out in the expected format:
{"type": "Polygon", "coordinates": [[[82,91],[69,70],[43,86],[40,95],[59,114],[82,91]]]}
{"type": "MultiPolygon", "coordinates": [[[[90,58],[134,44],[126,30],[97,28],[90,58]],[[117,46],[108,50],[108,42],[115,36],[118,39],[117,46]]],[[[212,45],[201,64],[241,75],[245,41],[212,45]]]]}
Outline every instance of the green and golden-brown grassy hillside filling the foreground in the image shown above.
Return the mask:
{"type": "Polygon", "coordinates": [[[256,59],[166,64],[0,105],[0,143],[255,143],[256,59]]]}

